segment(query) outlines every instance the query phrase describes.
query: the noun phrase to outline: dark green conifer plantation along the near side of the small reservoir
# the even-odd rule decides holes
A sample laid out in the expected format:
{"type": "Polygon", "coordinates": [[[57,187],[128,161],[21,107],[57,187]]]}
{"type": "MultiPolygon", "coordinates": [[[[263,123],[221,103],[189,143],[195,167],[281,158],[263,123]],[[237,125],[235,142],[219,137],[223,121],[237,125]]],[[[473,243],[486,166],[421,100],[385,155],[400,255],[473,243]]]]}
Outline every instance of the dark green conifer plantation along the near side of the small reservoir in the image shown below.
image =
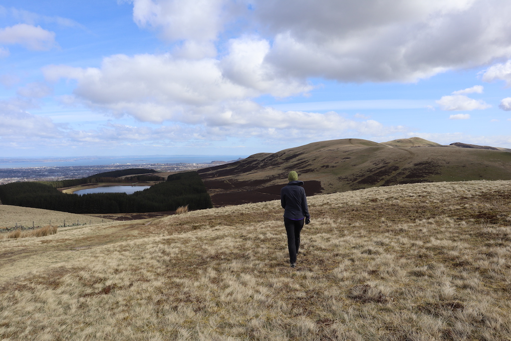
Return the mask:
{"type": "Polygon", "coordinates": [[[0,186],[0,200],[7,205],[80,214],[175,211],[185,205],[190,210],[213,207],[202,179],[194,171],[172,174],[167,181],[133,194],[65,194],[57,190],[55,184],[11,183],[0,186]]]}

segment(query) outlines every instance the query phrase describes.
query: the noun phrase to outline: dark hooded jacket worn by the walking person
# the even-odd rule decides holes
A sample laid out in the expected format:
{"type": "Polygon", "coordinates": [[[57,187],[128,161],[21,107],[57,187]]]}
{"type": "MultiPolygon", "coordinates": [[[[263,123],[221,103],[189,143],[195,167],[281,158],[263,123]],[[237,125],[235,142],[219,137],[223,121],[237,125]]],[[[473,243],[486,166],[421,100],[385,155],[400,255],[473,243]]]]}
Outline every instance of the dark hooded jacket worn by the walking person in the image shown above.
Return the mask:
{"type": "Polygon", "coordinates": [[[301,185],[304,181],[290,181],[286,187],[281,189],[281,205],[284,211],[284,218],[300,220],[310,218],[307,196],[301,185]]]}

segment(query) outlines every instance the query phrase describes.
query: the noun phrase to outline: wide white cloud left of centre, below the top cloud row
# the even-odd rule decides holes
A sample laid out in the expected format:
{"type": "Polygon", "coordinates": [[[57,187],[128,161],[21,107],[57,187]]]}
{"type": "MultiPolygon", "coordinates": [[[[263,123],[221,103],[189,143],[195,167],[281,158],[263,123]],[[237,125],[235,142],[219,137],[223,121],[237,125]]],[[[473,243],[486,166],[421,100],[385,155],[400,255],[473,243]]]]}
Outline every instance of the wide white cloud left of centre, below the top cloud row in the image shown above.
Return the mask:
{"type": "Polygon", "coordinates": [[[244,56],[244,51],[234,49],[226,57],[231,59],[227,71],[216,59],[184,60],[164,54],[115,55],[105,58],[101,69],[50,65],[43,73],[49,81],[75,79],[75,96],[91,107],[155,123],[195,124],[246,98],[282,97],[310,89],[299,80],[265,73],[260,66],[264,53],[246,60],[244,56]]]}

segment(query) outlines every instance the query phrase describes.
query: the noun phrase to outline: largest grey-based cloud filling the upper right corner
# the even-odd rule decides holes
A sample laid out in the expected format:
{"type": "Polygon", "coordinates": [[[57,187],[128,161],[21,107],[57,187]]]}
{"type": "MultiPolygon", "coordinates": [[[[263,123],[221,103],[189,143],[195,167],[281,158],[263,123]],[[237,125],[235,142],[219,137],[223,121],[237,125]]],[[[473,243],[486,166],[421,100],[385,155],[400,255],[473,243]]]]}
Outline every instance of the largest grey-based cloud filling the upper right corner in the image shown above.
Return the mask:
{"type": "Polygon", "coordinates": [[[504,0],[253,3],[268,60],[296,76],[416,81],[511,56],[504,0]]]}

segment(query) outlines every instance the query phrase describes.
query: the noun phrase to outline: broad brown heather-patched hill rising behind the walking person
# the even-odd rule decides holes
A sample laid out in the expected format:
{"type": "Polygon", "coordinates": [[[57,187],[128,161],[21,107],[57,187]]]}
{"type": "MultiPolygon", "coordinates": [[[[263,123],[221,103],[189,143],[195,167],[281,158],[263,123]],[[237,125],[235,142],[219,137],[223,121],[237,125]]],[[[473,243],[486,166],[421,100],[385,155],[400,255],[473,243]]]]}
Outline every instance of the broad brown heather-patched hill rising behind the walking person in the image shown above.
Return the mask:
{"type": "Polygon", "coordinates": [[[295,170],[308,195],[410,183],[511,179],[511,152],[443,146],[421,138],[342,139],[198,170],[215,206],[280,198],[295,170]]]}

